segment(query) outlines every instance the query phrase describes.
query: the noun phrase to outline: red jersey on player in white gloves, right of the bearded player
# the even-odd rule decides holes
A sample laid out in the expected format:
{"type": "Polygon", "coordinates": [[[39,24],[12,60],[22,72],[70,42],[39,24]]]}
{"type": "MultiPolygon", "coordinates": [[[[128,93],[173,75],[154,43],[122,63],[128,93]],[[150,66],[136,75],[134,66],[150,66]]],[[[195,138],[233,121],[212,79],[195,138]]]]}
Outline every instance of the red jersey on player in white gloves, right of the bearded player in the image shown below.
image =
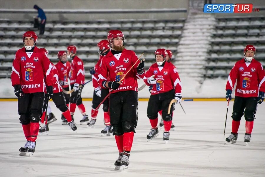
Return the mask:
{"type": "Polygon", "coordinates": [[[157,63],[152,64],[145,73],[144,78],[144,82],[148,86],[151,84],[148,84],[147,80],[152,75],[155,75],[157,81],[156,84],[153,85],[151,95],[168,92],[173,89],[175,93],[181,93],[181,82],[178,71],[172,63],[165,62],[163,67],[158,66],[157,63]]]}

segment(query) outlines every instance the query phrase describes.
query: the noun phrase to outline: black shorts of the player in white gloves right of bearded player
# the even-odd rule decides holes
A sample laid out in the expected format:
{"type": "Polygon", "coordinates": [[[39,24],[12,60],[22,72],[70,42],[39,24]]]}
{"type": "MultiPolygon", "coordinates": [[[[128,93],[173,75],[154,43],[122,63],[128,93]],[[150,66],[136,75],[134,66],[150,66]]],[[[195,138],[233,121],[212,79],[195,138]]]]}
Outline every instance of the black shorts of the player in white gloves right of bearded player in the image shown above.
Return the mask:
{"type": "MultiPolygon", "coordinates": [[[[150,95],[148,106],[147,106],[147,117],[149,119],[158,118],[158,111],[162,111],[162,118],[166,121],[172,120],[172,111],[171,107],[170,113],[168,114],[168,106],[172,99],[174,99],[174,90],[170,90],[169,92],[159,93],[156,95],[150,95]]],[[[174,106],[174,104],[173,104],[174,106]]]]}

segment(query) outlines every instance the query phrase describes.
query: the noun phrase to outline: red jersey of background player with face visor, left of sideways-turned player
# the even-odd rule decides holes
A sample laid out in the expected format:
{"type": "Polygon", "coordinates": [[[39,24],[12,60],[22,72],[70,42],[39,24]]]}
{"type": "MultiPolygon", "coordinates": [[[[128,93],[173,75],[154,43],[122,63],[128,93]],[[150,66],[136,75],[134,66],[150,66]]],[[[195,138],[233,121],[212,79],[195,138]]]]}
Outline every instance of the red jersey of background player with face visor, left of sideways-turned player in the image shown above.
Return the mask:
{"type": "Polygon", "coordinates": [[[68,86],[69,85],[68,74],[69,74],[70,69],[71,69],[70,62],[62,63],[61,61],[59,61],[58,63],[55,64],[55,67],[56,67],[57,72],[58,72],[59,83],[60,83],[60,81],[63,81],[63,84],[61,86],[63,88],[69,87],[68,86]]]}

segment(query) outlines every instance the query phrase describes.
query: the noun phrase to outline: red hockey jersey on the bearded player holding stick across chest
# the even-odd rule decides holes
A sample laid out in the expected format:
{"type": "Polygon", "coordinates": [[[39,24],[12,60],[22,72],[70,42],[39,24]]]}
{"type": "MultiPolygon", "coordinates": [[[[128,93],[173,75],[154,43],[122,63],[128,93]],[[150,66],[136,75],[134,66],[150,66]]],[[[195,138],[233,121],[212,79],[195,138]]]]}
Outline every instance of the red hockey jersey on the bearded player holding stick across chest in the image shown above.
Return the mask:
{"type": "Polygon", "coordinates": [[[117,90],[113,90],[112,93],[135,90],[137,91],[138,79],[143,79],[145,73],[138,75],[136,68],[140,61],[138,60],[137,55],[132,50],[124,49],[122,53],[113,55],[112,52],[109,52],[105,55],[100,63],[99,68],[99,80],[98,83],[100,87],[105,89],[105,86],[102,85],[102,81],[116,81],[119,82],[120,79],[127,73],[127,71],[132,67],[132,70],[128,72],[125,78],[120,82],[120,87],[117,90]],[[135,64],[136,62],[136,64],[135,64]],[[110,80],[107,79],[109,76],[110,80]]]}

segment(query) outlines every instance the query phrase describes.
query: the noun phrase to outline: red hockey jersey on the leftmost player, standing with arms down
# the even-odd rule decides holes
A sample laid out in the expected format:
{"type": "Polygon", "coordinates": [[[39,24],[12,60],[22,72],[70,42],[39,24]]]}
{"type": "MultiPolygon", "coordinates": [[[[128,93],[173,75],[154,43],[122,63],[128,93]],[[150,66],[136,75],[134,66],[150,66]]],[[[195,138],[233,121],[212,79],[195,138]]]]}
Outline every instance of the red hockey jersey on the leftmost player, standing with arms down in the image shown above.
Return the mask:
{"type": "Polygon", "coordinates": [[[47,54],[37,47],[33,52],[26,52],[24,47],[19,49],[13,60],[11,82],[13,86],[21,85],[24,93],[44,92],[45,84],[53,85],[52,64],[47,54]]]}

